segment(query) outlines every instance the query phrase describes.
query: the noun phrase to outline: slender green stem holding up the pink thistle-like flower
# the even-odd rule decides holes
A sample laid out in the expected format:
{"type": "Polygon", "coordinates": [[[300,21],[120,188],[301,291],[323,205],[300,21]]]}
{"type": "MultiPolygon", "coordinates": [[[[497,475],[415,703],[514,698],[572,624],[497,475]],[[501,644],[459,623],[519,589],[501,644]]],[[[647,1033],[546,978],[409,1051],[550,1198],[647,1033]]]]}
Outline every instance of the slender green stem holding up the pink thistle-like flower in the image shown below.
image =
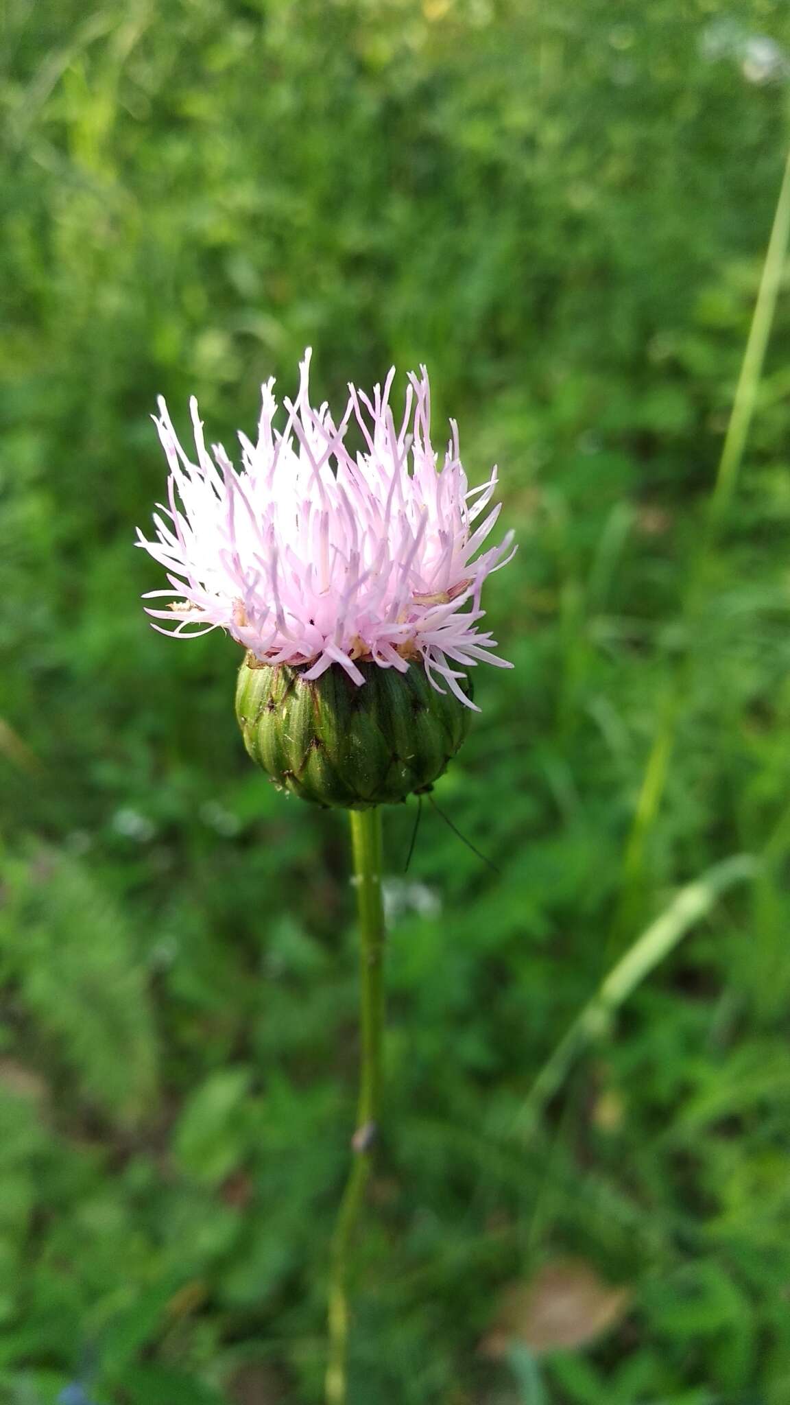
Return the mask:
{"type": "Polygon", "coordinates": [[[381,812],[350,811],[360,919],[360,1094],[351,1138],[353,1162],[332,1241],[326,1405],[346,1405],[349,1259],[371,1170],[381,1107],[384,1033],[384,906],[381,902],[381,812]]]}

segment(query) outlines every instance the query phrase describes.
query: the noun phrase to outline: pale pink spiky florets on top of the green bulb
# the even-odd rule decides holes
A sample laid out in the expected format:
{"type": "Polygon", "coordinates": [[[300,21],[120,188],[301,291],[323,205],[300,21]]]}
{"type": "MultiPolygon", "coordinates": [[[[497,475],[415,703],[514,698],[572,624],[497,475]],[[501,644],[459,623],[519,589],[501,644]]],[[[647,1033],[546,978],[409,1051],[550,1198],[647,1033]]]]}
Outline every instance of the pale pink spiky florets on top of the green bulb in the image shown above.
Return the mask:
{"type": "Polygon", "coordinates": [[[389,406],[394,370],[373,400],[350,386],[336,426],[328,405],[309,403],[309,360],[308,350],[283,433],[273,427],[274,381],[263,386],[257,443],[239,434],[240,469],[221,444],[208,454],[194,399],[193,464],[159,400],[169,506],[153,517],[156,540],[138,531],[138,545],[170,582],[145,599],[174,599],[148,613],[179,638],[226,629],[261,662],[309,665],[306,679],[336,663],[361,684],[357,660],[399,672],[422,660],[440,693],[443,681],[474,707],[458,687],[465,669],[481,660],[510,667],[492,652],[491,634],[478,631],[482,583],[514,549],[507,532],[477,555],[499,516],[499,507],[485,514],[496,468],[468,488],[454,422],[439,466],[425,367],[409,375],[399,429],[389,406]],[[344,444],[351,417],[364,440],[356,455],[344,444]]]}

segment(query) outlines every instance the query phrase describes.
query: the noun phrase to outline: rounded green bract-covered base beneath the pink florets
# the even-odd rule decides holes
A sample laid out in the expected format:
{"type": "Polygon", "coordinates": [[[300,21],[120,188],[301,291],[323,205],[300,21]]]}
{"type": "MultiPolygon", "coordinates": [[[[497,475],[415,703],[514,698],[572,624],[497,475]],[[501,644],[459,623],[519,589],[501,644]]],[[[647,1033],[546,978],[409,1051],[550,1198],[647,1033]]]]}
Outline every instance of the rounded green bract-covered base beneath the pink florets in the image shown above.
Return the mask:
{"type": "Polygon", "coordinates": [[[309,681],[306,665],[259,666],[247,655],[236,715],[249,754],[276,785],[318,805],[368,809],[429,790],[446,770],[470,710],[437,693],[423,667],[358,667],[364,687],[342,669],[309,681]]]}

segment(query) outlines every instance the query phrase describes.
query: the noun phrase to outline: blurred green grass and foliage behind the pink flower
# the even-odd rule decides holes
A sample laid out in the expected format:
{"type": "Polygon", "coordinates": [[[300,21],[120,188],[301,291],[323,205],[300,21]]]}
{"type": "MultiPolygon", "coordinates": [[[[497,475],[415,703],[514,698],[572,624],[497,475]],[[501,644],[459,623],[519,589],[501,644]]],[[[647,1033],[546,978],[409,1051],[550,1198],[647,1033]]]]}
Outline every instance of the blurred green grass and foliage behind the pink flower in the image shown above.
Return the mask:
{"type": "Polygon", "coordinates": [[[320,1399],[346,822],[132,547],[156,393],[231,444],[308,343],[316,398],[427,362],[520,541],[437,787],[500,874],[385,816],[351,1405],[790,1399],[782,298],[710,528],[789,80],[780,0],[7,0],[0,1401],[320,1399]]]}

